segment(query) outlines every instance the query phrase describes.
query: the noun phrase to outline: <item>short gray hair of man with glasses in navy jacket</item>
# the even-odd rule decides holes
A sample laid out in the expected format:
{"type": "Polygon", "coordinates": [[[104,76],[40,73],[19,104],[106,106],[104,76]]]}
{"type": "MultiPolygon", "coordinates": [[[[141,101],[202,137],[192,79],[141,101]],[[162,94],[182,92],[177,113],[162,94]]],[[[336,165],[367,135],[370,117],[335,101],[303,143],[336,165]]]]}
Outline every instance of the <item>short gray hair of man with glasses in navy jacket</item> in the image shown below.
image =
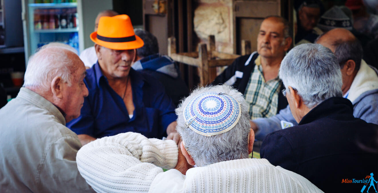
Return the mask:
{"type": "Polygon", "coordinates": [[[286,88],[297,90],[308,108],[342,96],[341,71],[335,54],[320,44],[295,46],[283,58],[279,77],[286,88]]]}

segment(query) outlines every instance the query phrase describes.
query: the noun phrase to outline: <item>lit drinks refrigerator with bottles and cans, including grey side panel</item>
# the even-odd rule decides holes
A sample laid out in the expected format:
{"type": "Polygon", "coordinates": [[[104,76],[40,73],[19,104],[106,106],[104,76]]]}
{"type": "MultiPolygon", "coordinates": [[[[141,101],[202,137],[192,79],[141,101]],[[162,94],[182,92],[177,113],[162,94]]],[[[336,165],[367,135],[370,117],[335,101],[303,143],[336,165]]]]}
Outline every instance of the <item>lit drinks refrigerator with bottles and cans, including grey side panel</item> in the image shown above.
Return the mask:
{"type": "Polygon", "coordinates": [[[46,43],[66,43],[79,54],[93,46],[89,34],[98,12],[113,8],[112,1],[104,0],[21,0],[21,3],[26,65],[29,57],[46,43]]]}

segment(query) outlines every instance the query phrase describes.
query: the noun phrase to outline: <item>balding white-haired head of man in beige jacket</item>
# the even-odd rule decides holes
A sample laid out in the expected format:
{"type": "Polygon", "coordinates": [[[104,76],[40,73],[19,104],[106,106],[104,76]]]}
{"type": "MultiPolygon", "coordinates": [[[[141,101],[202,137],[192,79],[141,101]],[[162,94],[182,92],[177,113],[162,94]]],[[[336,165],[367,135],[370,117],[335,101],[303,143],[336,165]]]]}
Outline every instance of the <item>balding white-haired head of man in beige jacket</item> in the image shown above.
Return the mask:
{"type": "Polygon", "coordinates": [[[60,108],[66,122],[80,116],[88,90],[84,63],[62,43],[43,46],[30,57],[24,86],[60,108]]]}

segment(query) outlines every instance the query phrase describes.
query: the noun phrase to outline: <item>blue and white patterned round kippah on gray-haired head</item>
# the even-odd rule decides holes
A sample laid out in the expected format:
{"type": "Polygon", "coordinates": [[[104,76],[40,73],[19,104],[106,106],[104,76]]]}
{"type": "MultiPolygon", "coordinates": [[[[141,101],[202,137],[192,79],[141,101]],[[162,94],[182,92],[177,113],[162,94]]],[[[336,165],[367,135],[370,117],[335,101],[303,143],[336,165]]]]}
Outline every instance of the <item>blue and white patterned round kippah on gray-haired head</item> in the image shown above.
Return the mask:
{"type": "Polygon", "coordinates": [[[202,93],[184,107],[186,126],[204,136],[231,130],[239,121],[240,115],[240,103],[223,93],[202,93]]]}

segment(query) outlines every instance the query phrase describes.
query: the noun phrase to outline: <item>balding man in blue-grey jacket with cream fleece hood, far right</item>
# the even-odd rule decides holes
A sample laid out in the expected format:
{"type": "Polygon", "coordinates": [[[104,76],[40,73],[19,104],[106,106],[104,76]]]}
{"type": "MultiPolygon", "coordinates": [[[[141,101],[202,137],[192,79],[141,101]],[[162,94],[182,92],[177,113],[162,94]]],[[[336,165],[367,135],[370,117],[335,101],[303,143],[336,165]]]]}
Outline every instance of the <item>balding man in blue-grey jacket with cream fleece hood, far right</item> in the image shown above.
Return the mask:
{"type": "MultiPolygon", "coordinates": [[[[362,60],[362,48],[355,36],[347,29],[336,28],[322,34],[317,40],[336,55],[342,74],[343,96],[353,103],[353,116],[366,122],[378,124],[378,71],[362,60]]],[[[282,128],[297,125],[290,107],[276,116],[255,119],[251,127],[256,139],[282,128]]]]}

